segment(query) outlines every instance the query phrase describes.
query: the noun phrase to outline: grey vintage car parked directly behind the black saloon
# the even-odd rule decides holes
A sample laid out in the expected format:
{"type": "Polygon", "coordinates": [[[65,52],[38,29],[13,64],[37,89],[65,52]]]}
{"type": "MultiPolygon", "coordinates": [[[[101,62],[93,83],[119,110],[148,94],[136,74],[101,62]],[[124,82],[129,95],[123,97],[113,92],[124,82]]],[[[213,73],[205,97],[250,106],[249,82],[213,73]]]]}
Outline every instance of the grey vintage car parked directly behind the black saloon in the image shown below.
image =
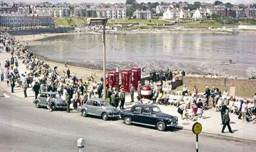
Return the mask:
{"type": "Polygon", "coordinates": [[[103,120],[108,118],[120,118],[120,110],[111,106],[107,100],[89,99],[81,108],[78,109],[82,116],[95,115],[101,116],[103,120]]]}

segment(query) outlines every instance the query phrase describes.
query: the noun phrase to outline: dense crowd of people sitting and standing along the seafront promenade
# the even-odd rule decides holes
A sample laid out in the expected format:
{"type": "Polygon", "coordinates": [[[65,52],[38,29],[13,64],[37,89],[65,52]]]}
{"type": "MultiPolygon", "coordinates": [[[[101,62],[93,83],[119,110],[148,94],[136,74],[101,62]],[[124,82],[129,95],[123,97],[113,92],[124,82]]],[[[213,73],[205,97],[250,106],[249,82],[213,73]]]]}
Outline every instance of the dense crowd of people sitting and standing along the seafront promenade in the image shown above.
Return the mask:
{"type": "MultiPolygon", "coordinates": [[[[8,33],[0,34],[0,52],[7,52],[11,54],[11,58],[6,59],[3,66],[1,65],[1,81],[6,81],[8,86],[11,87],[11,92],[14,92],[14,87],[23,88],[24,97],[27,98],[27,88],[31,87],[35,93],[35,99],[38,94],[42,92],[58,92],[61,98],[67,102],[67,112],[70,112],[70,103],[73,103],[73,109],[78,110],[88,99],[99,99],[103,97],[103,78],[97,81],[94,74],[83,80],[77,78],[74,72],[67,71],[59,72],[57,66],[51,68],[47,63],[41,61],[34,56],[33,52],[25,49],[14,36],[8,33]],[[18,72],[18,59],[27,66],[29,72],[18,72]]],[[[158,72],[150,71],[150,87],[152,88],[152,96],[150,103],[165,106],[176,106],[181,119],[188,119],[195,121],[203,119],[202,116],[207,115],[205,110],[209,110],[209,103],[213,105],[216,112],[220,111],[223,128],[228,126],[229,132],[232,133],[229,126],[228,113],[237,114],[238,119],[242,122],[255,119],[255,102],[256,93],[253,100],[247,99],[238,100],[234,96],[228,94],[227,89],[221,93],[219,88],[212,87],[209,89],[206,86],[204,94],[200,94],[198,88],[194,86],[191,90],[183,85],[182,90],[174,91],[172,82],[179,80],[179,75],[185,76],[185,71],[170,71],[160,70],[158,72]]],[[[129,94],[131,102],[134,101],[134,92],[137,90],[136,104],[145,103],[141,94],[142,84],[139,82],[137,88],[133,85],[130,86],[129,94]]],[[[123,88],[109,87],[106,88],[106,98],[111,105],[124,109],[124,102],[126,101],[126,93],[123,88]]],[[[50,96],[47,97],[50,100],[50,96]]],[[[48,110],[51,111],[50,106],[48,110]]],[[[222,129],[222,132],[223,130],[222,129]]]]}

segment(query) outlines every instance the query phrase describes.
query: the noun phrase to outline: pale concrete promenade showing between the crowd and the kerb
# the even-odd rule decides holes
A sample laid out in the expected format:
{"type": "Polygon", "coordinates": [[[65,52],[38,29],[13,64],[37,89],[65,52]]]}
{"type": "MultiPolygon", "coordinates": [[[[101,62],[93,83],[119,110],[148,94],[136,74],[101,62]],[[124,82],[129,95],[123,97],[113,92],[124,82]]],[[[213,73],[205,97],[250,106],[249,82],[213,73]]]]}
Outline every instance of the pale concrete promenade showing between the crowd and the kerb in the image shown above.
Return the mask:
{"type": "MultiPolygon", "coordinates": [[[[8,53],[5,53],[5,52],[0,53],[1,68],[4,68],[3,67],[4,61],[7,59],[10,60],[10,57],[11,56],[8,53]]],[[[25,71],[28,71],[25,68],[25,65],[22,64],[21,60],[18,60],[18,64],[19,64],[19,67],[18,67],[19,74],[22,74],[25,71]]],[[[0,89],[4,92],[8,92],[12,95],[17,96],[18,98],[24,99],[23,89],[20,87],[15,87],[14,93],[11,93],[11,87],[7,86],[6,80],[3,82],[0,82],[0,89]]],[[[33,104],[32,101],[35,99],[35,94],[32,92],[31,87],[29,87],[27,89],[27,94],[28,94],[28,98],[26,98],[27,102],[30,102],[31,104],[33,104]]],[[[137,95],[137,93],[134,94],[135,99],[136,99],[136,95],[137,95]]],[[[11,98],[11,96],[8,96],[5,94],[5,98],[11,98]]],[[[135,103],[130,103],[130,101],[131,101],[130,95],[127,93],[126,104],[125,104],[124,108],[129,109],[130,107],[132,107],[135,104],[135,103]]],[[[192,130],[192,126],[196,121],[181,120],[180,114],[177,112],[177,108],[175,106],[163,106],[163,105],[158,105],[158,106],[160,107],[162,112],[179,117],[179,126],[178,127],[186,129],[186,130],[192,130]]],[[[72,105],[71,105],[71,107],[72,107],[72,105]]],[[[47,110],[47,109],[45,109],[45,110],[47,110]]],[[[227,128],[225,130],[225,134],[221,133],[222,125],[220,125],[220,123],[221,123],[220,112],[215,112],[215,109],[213,109],[213,108],[209,108],[208,110],[205,110],[204,114],[203,114],[203,119],[198,120],[198,122],[200,122],[202,124],[202,132],[204,132],[204,133],[256,141],[256,132],[255,132],[256,124],[254,124],[252,122],[249,122],[249,123],[242,122],[242,120],[238,119],[238,115],[229,114],[229,116],[231,119],[231,128],[232,128],[234,134],[230,134],[228,132],[227,128]]]]}

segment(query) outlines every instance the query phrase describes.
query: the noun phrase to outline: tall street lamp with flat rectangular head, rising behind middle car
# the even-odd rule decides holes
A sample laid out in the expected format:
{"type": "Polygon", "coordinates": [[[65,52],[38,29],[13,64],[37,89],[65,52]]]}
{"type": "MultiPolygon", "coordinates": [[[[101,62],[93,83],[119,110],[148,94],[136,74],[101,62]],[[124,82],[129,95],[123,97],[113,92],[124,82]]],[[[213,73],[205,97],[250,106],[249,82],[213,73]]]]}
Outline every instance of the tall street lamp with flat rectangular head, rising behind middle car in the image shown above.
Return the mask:
{"type": "Polygon", "coordinates": [[[103,26],[103,99],[106,99],[106,43],[105,43],[105,29],[108,22],[108,18],[88,18],[90,25],[102,25],[103,26]]]}

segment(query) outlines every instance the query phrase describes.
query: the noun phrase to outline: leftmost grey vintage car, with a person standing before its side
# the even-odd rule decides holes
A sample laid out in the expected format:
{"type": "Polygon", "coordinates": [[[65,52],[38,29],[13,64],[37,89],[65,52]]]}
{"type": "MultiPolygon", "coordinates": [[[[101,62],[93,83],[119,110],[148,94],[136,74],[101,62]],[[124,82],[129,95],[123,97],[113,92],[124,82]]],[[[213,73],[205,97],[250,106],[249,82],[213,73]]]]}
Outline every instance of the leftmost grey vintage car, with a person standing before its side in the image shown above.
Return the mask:
{"type": "Polygon", "coordinates": [[[43,92],[40,94],[40,96],[37,97],[37,99],[35,99],[33,101],[33,103],[36,104],[37,108],[42,107],[47,107],[47,94],[50,95],[51,97],[51,109],[52,110],[56,110],[57,108],[60,109],[67,109],[67,103],[65,102],[64,99],[62,99],[60,97],[60,95],[56,92],[43,92]]]}

